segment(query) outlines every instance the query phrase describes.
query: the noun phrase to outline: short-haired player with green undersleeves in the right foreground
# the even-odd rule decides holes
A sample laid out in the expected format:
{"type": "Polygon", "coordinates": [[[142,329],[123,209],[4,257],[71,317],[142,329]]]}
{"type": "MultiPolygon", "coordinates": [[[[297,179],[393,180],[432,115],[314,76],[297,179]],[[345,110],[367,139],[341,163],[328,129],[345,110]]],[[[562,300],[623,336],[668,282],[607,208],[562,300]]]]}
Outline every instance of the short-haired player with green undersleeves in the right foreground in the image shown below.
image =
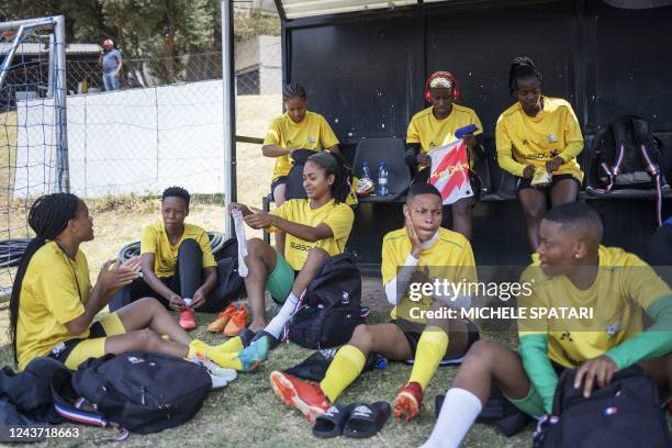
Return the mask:
{"type": "MultiPolygon", "coordinates": [[[[553,413],[562,371],[576,369],[574,388],[590,397],[634,365],[658,384],[661,404],[672,390],[672,290],[636,255],[602,243],[600,215],[582,202],[551,209],[539,227],[539,260],[520,283],[524,310],[593,310],[590,318],[533,317],[518,324],[518,351],[474,344],[446,393],[429,439],[421,448],[457,447],[488,403],[493,387],[519,411],[553,413]],[[643,326],[643,314],[650,325],[643,326]]],[[[601,396],[605,396],[604,393],[601,396]]],[[[600,400],[600,397],[596,397],[600,400]]],[[[597,402],[595,402],[596,404],[597,402]]],[[[591,446],[609,446],[593,435],[591,446]]]]}

